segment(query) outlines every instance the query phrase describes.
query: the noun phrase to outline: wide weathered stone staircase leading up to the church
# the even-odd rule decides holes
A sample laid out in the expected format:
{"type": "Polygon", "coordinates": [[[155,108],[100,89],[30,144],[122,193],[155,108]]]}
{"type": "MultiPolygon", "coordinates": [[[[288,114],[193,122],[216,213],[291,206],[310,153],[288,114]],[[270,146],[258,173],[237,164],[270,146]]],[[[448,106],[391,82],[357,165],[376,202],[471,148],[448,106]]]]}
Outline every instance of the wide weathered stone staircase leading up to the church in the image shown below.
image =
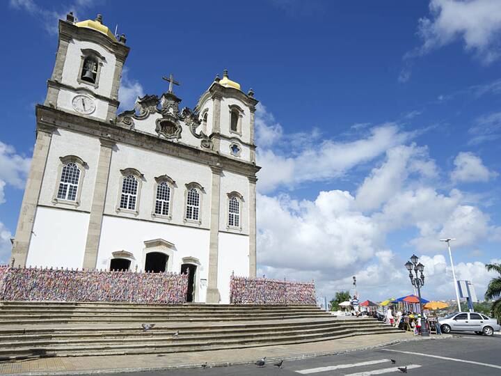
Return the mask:
{"type": "Polygon", "coordinates": [[[0,359],[221,350],[395,331],[315,306],[0,303],[0,359]],[[155,327],[145,332],[143,322],[155,327]]]}

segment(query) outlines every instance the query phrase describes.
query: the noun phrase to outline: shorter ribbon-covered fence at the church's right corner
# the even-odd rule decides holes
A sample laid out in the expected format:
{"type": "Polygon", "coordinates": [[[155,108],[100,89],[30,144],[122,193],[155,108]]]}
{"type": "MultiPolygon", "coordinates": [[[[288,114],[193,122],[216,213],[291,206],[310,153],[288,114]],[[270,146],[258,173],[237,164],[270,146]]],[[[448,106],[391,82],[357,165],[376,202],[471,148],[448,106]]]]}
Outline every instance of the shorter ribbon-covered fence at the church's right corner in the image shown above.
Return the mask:
{"type": "Polygon", "coordinates": [[[315,283],[267,278],[230,278],[232,304],[317,304],[315,283]]]}

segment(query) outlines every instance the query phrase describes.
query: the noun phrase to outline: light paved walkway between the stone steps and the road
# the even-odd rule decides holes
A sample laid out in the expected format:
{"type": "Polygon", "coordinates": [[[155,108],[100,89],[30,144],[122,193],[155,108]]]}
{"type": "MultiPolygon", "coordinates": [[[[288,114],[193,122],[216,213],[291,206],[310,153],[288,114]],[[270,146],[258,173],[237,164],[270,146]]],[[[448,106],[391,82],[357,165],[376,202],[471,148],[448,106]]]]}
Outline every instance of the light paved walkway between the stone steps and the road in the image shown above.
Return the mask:
{"type": "Polygon", "coordinates": [[[175,368],[196,368],[207,362],[207,366],[230,366],[253,363],[267,357],[273,359],[307,359],[328,354],[341,354],[356,350],[367,350],[392,343],[415,340],[450,338],[451,335],[422,338],[408,332],[353,336],[299,345],[276,345],[248,347],[234,350],[212,350],[203,352],[178,352],[173,354],[138,354],[102,357],[55,357],[6,361],[0,363],[0,375],[78,375],[92,373],[125,373],[148,370],[169,370],[175,368]]]}

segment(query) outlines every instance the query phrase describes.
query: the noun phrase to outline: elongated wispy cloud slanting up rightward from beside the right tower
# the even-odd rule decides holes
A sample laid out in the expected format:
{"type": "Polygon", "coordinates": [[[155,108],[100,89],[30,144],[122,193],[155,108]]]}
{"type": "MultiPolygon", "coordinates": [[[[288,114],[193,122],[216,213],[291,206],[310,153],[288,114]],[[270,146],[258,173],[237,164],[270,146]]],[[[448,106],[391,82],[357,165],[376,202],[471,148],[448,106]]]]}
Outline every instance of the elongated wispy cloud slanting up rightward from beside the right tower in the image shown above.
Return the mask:
{"type": "Polygon", "coordinates": [[[408,141],[413,135],[402,132],[395,123],[385,123],[354,141],[326,139],[315,144],[304,143],[298,150],[287,149],[287,153],[277,148],[258,149],[257,162],[263,167],[259,173],[258,189],[266,193],[280,186],[292,189],[303,182],[340,178],[354,166],[379,157],[388,148],[408,141]]]}

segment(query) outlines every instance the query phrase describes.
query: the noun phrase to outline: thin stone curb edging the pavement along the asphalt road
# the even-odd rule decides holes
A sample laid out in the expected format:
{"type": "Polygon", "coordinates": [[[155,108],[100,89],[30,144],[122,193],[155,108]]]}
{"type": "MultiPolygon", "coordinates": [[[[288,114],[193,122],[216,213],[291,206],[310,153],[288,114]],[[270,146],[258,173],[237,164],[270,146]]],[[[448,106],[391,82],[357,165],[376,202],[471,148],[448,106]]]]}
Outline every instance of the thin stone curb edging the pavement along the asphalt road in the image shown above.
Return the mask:
{"type": "MultiPolygon", "coordinates": [[[[386,347],[390,345],[397,345],[398,343],[406,343],[413,342],[418,340],[444,340],[453,338],[451,335],[443,334],[440,337],[427,337],[427,338],[401,338],[397,340],[390,340],[388,342],[379,343],[377,345],[366,346],[366,347],[358,347],[356,349],[349,350],[338,350],[338,351],[327,351],[327,352],[312,352],[308,354],[296,355],[294,357],[273,357],[267,358],[267,363],[271,363],[273,361],[284,360],[284,361],[295,361],[301,359],[310,359],[316,357],[326,357],[328,355],[340,355],[347,354],[350,352],[364,351],[364,350],[374,350],[380,347],[386,347]]],[[[227,362],[217,362],[217,363],[207,363],[208,368],[216,368],[216,367],[230,367],[230,366],[239,366],[244,364],[253,364],[255,359],[253,360],[244,360],[244,361],[227,361],[227,362]]],[[[134,368],[117,368],[117,369],[104,369],[104,370],[75,370],[75,371],[44,371],[44,372],[26,372],[26,373],[5,373],[1,374],[1,376],[66,376],[66,375],[106,375],[113,373],[134,373],[134,372],[152,372],[152,371],[161,371],[161,370],[177,370],[177,369],[187,369],[187,368],[201,368],[200,363],[186,363],[179,364],[175,366],[158,366],[158,367],[134,367],[134,368]]]]}

